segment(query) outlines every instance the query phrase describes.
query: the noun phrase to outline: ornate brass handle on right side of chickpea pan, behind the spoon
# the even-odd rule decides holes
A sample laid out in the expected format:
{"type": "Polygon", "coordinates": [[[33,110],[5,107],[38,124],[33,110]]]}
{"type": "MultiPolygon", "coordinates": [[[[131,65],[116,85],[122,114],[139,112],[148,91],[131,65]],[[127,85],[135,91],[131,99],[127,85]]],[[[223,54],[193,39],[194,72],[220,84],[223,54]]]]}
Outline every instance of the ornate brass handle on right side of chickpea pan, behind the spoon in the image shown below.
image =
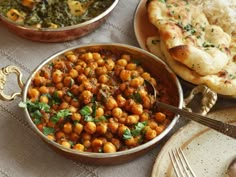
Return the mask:
{"type": "Polygon", "coordinates": [[[201,108],[198,113],[201,115],[206,115],[215,105],[217,100],[217,93],[212,91],[205,85],[198,85],[191,90],[189,96],[184,99],[184,109],[192,111],[191,108],[187,107],[187,105],[198,93],[202,94],[201,108]]]}

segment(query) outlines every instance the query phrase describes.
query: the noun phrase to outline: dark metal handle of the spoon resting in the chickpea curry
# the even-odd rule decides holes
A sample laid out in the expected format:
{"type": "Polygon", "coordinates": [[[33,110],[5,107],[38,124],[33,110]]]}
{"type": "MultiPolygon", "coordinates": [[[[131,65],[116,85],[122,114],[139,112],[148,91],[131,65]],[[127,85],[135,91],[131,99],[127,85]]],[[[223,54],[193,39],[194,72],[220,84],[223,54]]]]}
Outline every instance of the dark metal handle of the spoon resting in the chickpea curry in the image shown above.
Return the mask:
{"type": "Polygon", "coordinates": [[[214,119],[211,119],[211,118],[208,118],[208,117],[196,114],[196,113],[188,112],[188,111],[179,109],[175,106],[165,104],[163,102],[156,102],[156,104],[157,104],[157,107],[168,109],[169,111],[172,111],[173,113],[177,113],[186,119],[193,120],[195,122],[198,122],[202,125],[210,127],[218,132],[221,132],[227,136],[230,136],[236,139],[236,126],[234,125],[230,125],[228,123],[214,120],[214,119]]]}

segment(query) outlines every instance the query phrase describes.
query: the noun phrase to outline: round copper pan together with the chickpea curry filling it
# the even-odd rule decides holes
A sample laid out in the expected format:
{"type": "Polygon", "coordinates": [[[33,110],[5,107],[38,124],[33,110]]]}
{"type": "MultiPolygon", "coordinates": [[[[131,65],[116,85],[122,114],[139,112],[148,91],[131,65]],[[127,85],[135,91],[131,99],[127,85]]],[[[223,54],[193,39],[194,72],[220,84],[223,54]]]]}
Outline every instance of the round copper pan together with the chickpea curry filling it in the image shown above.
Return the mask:
{"type": "MultiPolygon", "coordinates": [[[[19,106],[39,137],[68,158],[112,165],[127,162],[158,144],[178,117],[153,111],[153,83],[158,100],[182,108],[175,74],[157,57],[123,44],[93,44],[66,49],[46,59],[25,84],[15,66],[1,70],[18,75],[19,106]]],[[[3,84],[4,85],[4,84],[3,84]]],[[[3,86],[1,87],[3,88],[3,86]]]]}

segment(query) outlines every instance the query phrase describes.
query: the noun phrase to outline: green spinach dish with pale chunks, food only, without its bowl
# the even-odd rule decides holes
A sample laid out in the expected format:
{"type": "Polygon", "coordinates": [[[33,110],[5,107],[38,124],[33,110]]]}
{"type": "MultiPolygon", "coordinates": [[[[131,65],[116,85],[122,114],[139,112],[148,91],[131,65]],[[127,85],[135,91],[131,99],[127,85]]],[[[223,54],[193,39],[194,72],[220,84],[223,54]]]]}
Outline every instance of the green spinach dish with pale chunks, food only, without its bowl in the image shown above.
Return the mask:
{"type": "Polygon", "coordinates": [[[2,0],[0,14],[22,26],[61,28],[88,21],[114,0],[2,0]]]}

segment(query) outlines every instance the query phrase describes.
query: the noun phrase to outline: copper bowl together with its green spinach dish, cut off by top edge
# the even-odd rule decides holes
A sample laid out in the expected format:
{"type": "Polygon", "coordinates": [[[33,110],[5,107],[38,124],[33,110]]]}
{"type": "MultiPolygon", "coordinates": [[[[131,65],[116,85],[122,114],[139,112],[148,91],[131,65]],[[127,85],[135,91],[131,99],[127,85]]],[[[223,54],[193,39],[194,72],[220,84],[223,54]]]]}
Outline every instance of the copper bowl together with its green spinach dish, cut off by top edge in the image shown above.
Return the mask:
{"type": "Polygon", "coordinates": [[[98,28],[119,0],[0,0],[0,19],[13,33],[39,42],[80,38],[98,28]]]}

